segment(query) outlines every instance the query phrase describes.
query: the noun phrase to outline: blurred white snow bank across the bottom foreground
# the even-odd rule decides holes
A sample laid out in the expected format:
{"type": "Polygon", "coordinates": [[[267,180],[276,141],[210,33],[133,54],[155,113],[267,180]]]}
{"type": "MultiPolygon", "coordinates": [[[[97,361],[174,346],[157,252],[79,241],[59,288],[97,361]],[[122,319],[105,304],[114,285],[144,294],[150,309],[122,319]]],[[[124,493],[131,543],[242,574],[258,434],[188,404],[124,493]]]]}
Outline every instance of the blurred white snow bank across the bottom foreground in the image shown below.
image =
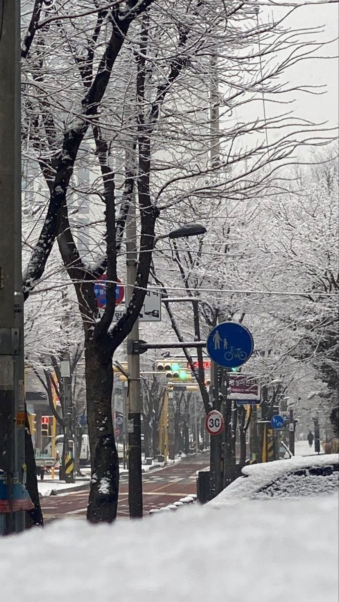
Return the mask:
{"type": "Polygon", "coordinates": [[[337,602],[338,500],[194,506],[0,539],[10,602],[337,602]]]}

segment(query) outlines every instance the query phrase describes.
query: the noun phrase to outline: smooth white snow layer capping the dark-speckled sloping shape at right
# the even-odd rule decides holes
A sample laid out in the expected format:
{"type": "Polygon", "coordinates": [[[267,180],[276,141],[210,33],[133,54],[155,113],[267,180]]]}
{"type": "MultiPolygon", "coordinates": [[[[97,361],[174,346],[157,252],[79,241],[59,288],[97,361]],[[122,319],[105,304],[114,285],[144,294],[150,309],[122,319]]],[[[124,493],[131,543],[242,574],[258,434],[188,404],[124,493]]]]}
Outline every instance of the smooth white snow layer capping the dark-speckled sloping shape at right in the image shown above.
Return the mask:
{"type": "MultiPolygon", "coordinates": [[[[324,467],[326,465],[338,464],[338,462],[339,457],[337,454],[328,454],[310,457],[294,456],[288,460],[276,460],[274,462],[245,466],[242,468],[242,474],[244,474],[244,476],[233,481],[233,483],[221,491],[221,493],[217,495],[214,500],[209,502],[209,504],[211,506],[220,507],[224,504],[239,503],[239,500],[251,498],[257,494],[259,489],[267,487],[270,483],[276,482],[278,479],[287,476],[288,473],[295,470],[309,467],[324,467]]],[[[325,477],[318,478],[325,479],[325,477]]],[[[338,483],[338,473],[334,475],[332,481],[333,483],[331,482],[327,492],[334,489],[335,484],[338,483]]],[[[311,487],[311,483],[309,483],[309,485],[311,487]]],[[[290,495],[295,495],[295,488],[292,489],[291,487],[292,482],[290,482],[288,486],[287,494],[290,492],[290,495]]],[[[301,493],[302,492],[299,492],[299,494],[301,493]]],[[[309,494],[309,491],[306,491],[305,495],[306,494],[309,494]]]]}

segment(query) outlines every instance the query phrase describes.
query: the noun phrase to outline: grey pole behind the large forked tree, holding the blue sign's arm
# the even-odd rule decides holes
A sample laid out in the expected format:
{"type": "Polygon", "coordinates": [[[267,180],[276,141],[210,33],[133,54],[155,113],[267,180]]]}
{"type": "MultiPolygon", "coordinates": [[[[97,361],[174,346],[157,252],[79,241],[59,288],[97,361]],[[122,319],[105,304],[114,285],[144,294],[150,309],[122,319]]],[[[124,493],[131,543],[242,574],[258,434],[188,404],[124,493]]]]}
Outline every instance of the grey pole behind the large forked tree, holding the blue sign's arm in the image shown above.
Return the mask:
{"type": "MultiPolygon", "coordinates": [[[[126,304],[130,302],[138,267],[136,247],[136,207],[130,203],[126,222],[126,304]]],[[[128,420],[133,421],[133,432],[128,433],[128,506],[131,518],[142,517],[141,473],[141,387],[139,355],[130,353],[132,341],[139,340],[139,318],[127,335],[127,366],[129,377],[128,420]]]]}

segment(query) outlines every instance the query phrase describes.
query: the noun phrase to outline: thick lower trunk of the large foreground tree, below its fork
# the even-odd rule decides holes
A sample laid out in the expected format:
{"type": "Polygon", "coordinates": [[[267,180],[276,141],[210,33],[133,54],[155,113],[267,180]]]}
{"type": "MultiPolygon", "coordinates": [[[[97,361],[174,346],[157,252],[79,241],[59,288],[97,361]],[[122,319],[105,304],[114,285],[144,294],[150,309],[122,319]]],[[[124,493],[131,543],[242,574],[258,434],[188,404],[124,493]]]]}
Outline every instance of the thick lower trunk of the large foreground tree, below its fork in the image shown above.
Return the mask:
{"type": "Polygon", "coordinates": [[[107,336],[88,340],[86,359],[87,420],[92,478],[87,520],[112,523],[119,492],[119,461],[112,420],[112,344],[107,336]]]}

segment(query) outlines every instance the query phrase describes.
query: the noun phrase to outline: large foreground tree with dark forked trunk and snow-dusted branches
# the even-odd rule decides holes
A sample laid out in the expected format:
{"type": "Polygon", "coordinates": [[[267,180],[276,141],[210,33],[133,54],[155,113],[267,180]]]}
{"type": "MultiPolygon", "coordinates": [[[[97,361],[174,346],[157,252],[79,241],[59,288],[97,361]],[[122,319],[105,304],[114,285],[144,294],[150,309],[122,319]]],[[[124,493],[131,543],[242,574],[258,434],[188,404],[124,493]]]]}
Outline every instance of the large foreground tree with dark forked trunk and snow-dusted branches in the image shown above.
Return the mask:
{"type": "Polygon", "coordinates": [[[84,329],[92,459],[87,518],[112,521],[118,500],[112,356],[144,302],[156,231],[181,221],[191,206],[208,220],[224,199],[250,202],[302,143],[302,131],[311,141],[314,126],[287,114],[230,117],[237,107],[258,104],[262,93],[277,98],[276,79],[319,45],[307,31],[284,31],[284,19],[259,24],[252,5],[233,1],[36,0],[26,26],[24,151],[45,179],[46,203],[24,293],[39,283],[57,240],[84,329]],[[279,132],[270,144],[265,128],[279,132]],[[111,327],[128,212],[137,220],[137,276],[124,315],[111,327]],[[103,273],[100,316],[93,284],[103,273]]]}

